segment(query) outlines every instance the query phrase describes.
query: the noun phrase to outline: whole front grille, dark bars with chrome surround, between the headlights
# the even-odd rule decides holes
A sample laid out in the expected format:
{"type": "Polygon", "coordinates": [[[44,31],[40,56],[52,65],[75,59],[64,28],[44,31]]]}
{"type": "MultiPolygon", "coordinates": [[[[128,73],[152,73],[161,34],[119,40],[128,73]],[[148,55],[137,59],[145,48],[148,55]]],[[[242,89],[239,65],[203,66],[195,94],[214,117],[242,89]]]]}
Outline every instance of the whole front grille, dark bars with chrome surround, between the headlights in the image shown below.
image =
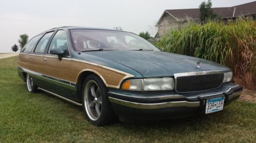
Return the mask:
{"type": "Polygon", "coordinates": [[[175,90],[178,93],[216,89],[220,87],[224,78],[221,71],[178,73],[174,76],[175,90]]]}

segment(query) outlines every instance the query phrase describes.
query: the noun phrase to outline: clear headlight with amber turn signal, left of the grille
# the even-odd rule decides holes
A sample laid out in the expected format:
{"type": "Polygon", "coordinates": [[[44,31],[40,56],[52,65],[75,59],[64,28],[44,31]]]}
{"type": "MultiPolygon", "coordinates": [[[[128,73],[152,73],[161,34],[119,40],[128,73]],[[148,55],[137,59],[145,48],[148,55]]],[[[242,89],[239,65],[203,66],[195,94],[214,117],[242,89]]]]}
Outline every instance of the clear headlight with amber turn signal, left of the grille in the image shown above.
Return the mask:
{"type": "Polygon", "coordinates": [[[129,79],[123,82],[123,90],[130,91],[170,91],[174,90],[172,77],[129,79]]]}

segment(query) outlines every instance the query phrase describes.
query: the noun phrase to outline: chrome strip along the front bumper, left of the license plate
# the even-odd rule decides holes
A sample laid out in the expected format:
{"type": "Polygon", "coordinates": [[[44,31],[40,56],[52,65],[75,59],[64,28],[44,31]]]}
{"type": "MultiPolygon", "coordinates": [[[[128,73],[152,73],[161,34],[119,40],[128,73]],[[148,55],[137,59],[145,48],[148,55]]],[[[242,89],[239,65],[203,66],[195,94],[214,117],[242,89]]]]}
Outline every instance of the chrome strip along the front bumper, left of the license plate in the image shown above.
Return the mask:
{"type": "Polygon", "coordinates": [[[116,99],[109,97],[109,100],[113,103],[120,104],[127,107],[137,108],[137,109],[161,109],[169,107],[199,107],[200,102],[188,102],[188,101],[173,101],[173,102],[162,102],[162,103],[136,103],[130,101],[124,101],[121,99],[116,99]]]}

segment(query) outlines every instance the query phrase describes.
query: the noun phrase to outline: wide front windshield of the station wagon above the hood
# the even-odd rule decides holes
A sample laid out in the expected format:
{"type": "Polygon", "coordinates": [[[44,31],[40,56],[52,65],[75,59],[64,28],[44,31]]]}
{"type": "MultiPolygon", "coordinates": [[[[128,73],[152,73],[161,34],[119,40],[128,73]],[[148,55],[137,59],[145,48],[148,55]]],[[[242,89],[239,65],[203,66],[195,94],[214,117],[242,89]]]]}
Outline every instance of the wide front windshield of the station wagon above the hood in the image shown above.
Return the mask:
{"type": "Polygon", "coordinates": [[[90,50],[159,50],[143,38],[121,31],[71,30],[76,51],[90,50]]]}

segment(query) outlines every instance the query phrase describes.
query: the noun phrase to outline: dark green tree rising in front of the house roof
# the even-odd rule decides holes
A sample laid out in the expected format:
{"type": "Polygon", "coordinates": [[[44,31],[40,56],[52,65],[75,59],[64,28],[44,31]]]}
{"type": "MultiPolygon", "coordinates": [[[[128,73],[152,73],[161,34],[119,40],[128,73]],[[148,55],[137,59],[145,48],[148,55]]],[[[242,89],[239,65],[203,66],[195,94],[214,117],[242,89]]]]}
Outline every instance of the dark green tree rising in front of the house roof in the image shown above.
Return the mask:
{"type": "Polygon", "coordinates": [[[200,9],[200,20],[205,22],[207,20],[218,20],[220,16],[211,9],[212,3],[208,0],[207,3],[202,2],[199,6],[200,9]]]}

